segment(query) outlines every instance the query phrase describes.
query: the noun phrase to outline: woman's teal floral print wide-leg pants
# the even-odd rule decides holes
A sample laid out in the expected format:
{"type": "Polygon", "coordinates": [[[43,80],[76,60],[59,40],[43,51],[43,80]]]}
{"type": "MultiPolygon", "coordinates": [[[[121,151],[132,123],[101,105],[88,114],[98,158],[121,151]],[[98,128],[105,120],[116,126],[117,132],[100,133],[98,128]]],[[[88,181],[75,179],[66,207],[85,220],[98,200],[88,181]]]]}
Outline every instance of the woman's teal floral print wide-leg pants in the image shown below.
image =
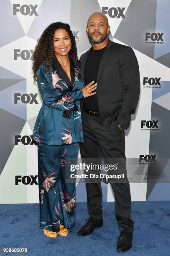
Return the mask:
{"type": "Polygon", "coordinates": [[[75,183],[65,182],[65,162],[77,159],[78,143],[38,145],[40,228],[58,232],[75,224],[75,183]]]}

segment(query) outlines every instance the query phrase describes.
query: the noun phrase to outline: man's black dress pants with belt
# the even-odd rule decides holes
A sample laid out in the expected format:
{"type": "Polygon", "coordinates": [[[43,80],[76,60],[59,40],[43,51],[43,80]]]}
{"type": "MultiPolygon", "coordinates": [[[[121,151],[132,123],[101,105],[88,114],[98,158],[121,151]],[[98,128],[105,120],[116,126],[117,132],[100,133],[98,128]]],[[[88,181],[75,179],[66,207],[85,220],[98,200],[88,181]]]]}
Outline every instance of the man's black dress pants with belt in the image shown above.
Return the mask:
{"type": "MultiPolygon", "coordinates": [[[[84,143],[80,143],[82,159],[125,159],[125,133],[116,128],[107,131],[99,117],[93,117],[82,111],[82,129],[84,143]]],[[[124,167],[125,168],[125,167],[124,167]]],[[[126,169],[125,169],[126,172],[126,169]]],[[[130,185],[126,183],[111,183],[115,195],[115,214],[119,230],[133,231],[133,220],[130,219],[131,197],[130,185]]],[[[101,183],[86,181],[87,208],[90,217],[102,217],[101,183]]],[[[109,220],[107,220],[109,221],[109,220]]]]}

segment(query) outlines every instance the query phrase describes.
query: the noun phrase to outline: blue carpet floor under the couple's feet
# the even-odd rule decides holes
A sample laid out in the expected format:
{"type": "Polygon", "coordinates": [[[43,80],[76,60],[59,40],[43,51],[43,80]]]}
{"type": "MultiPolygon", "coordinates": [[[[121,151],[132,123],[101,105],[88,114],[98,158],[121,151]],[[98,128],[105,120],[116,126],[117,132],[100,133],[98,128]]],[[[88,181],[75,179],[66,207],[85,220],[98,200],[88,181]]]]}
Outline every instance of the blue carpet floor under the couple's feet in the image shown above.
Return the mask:
{"type": "MultiPolygon", "coordinates": [[[[102,228],[86,237],[77,236],[87,215],[86,203],[77,203],[76,224],[67,237],[48,238],[39,229],[39,205],[0,205],[0,248],[29,248],[24,255],[49,256],[160,256],[170,255],[170,201],[132,202],[135,223],[133,248],[116,252],[120,234],[115,220],[113,202],[103,203],[102,228]]],[[[2,253],[1,255],[23,253],[2,253]]]]}

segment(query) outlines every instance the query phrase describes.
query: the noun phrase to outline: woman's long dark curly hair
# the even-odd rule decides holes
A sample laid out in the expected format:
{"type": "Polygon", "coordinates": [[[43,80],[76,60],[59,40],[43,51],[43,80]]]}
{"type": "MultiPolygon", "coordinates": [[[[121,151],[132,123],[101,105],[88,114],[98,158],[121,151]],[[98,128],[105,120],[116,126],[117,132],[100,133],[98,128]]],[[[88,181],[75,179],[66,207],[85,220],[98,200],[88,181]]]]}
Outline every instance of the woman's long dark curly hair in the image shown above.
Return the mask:
{"type": "Polygon", "coordinates": [[[70,58],[74,63],[78,61],[75,36],[70,30],[70,25],[62,22],[52,23],[42,33],[40,38],[37,40],[37,45],[35,46],[35,50],[32,58],[33,60],[32,70],[33,70],[34,81],[37,80],[37,69],[41,61],[43,61],[45,72],[49,72],[50,67],[52,67],[52,69],[55,70],[55,53],[54,53],[54,46],[53,46],[54,33],[57,29],[60,29],[60,28],[65,29],[70,36],[71,44],[72,44],[71,50],[69,51],[70,58]]]}

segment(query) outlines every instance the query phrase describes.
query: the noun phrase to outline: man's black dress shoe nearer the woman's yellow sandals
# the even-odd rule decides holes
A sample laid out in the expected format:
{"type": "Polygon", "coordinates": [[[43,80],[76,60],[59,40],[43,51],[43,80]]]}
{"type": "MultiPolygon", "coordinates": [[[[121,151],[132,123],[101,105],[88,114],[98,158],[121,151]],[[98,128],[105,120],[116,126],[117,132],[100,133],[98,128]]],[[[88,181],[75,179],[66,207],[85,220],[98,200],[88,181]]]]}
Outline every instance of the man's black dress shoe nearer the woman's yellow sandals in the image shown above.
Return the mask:
{"type": "Polygon", "coordinates": [[[87,222],[85,223],[82,228],[78,231],[78,236],[87,236],[90,235],[95,228],[100,228],[103,225],[102,218],[100,220],[97,220],[95,218],[89,217],[87,222]]]}

